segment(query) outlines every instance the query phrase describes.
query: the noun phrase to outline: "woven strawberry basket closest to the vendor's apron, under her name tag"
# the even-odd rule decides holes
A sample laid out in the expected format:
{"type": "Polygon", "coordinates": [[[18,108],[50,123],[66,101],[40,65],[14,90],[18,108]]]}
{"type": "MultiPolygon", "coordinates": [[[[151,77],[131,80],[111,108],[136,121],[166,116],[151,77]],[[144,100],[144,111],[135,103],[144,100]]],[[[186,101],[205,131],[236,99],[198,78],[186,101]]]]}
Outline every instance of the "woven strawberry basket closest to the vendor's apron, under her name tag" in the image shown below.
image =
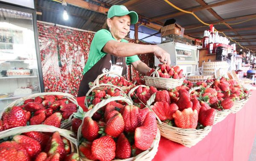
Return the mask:
{"type": "MultiPolygon", "coordinates": [[[[134,86],[132,82],[129,82],[123,76],[119,75],[118,73],[111,72],[111,71],[109,71],[107,73],[100,74],[95,79],[94,82],[89,83],[89,87],[92,88],[92,87],[94,87],[96,85],[100,85],[100,84],[111,84],[111,85],[118,86],[123,91],[125,91],[125,93],[128,93],[129,89],[131,89],[134,86]],[[107,76],[108,74],[110,74],[111,76],[107,76]],[[113,77],[114,75],[116,75],[116,77],[113,77]]],[[[96,89],[102,90],[103,88],[104,88],[103,86],[99,86],[96,89]]]]}

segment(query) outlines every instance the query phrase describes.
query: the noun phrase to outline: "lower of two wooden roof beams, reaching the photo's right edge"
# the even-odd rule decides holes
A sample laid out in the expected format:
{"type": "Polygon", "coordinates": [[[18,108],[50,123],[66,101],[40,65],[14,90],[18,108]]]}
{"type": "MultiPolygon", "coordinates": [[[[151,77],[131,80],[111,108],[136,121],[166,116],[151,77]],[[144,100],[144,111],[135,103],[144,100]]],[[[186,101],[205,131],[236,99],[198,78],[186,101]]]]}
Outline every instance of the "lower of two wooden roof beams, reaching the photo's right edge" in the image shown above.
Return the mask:
{"type": "MultiPolygon", "coordinates": [[[[251,19],[251,18],[256,18],[256,14],[250,14],[250,15],[246,15],[246,16],[240,16],[240,17],[232,17],[232,18],[228,18],[228,19],[224,19],[221,21],[208,21],[206,23],[208,24],[213,24],[213,25],[218,25],[218,23],[224,23],[224,22],[230,22],[230,21],[236,21],[236,20],[244,20],[244,19],[251,19]]],[[[203,24],[196,24],[196,25],[188,25],[188,26],[184,26],[184,28],[196,28],[196,27],[200,27],[203,26],[203,24]]]]}

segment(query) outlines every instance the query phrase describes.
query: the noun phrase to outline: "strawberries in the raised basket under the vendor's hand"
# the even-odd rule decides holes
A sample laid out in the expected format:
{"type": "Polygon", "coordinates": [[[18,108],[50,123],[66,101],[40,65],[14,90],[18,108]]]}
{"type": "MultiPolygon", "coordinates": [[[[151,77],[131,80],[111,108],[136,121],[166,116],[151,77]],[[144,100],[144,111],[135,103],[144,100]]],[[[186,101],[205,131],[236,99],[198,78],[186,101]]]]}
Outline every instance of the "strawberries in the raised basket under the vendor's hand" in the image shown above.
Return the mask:
{"type": "Polygon", "coordinates": [[[161,78],[173,78],[180,79],[183,78],[183,69],[179,66],[169,66],[167,64],[159,64],[158,74],[161,78]]]}

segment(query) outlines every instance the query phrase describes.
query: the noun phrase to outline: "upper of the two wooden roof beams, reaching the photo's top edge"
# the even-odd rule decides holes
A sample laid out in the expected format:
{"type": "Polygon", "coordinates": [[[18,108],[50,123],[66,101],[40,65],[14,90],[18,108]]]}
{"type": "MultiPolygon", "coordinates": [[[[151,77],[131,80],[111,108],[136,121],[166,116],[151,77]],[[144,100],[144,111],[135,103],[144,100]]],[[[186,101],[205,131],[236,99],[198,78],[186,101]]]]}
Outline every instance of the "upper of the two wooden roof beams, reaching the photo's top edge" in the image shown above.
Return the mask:
{"type": "MultiPolygon", "coordinates": [[[[210,5],[207,5],[207,6],[189,8],[189,9],[186,9],[186,11],[196,12],[196,11],[201,11],[201,10],[212,8],[212,7],[217,7],[217,6],[221,6],[221,5],[225,5],[225,4],[229,4],[229,3],[234,3],[234,2],[237,2],[237,1],[241,1],[241,0],[225,0],[225,1],[222,1],[222,2],[218,2],[218,3],[213,3],[213,4],[210,4],[210,5]]],[[[179,11],[177,13],[169,14],[169,15],[166,15],[166,16],[154,17],[154,18],[152,18],[152,21],[158,21],[158,20],[173,18],[173,17],[177,17],[177,16],[180,16],[180,15],[183,15],[183,14],[186,14],[186,13],[179,11]]]]}

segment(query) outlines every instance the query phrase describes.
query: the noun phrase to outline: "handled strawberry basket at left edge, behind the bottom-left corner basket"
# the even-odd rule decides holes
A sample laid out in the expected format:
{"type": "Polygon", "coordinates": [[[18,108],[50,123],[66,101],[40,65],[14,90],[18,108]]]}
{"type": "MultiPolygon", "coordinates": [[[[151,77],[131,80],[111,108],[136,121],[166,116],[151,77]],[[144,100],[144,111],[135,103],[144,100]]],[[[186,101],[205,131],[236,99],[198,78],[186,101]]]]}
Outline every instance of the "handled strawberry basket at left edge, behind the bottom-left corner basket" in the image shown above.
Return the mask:
{"type": "Polygon", "coordinates": [[[0,113],[0,131],[36,124],[67,129],[78,107],[76,98],[68,93],[35,93],[6,105],[0,113]]]}

